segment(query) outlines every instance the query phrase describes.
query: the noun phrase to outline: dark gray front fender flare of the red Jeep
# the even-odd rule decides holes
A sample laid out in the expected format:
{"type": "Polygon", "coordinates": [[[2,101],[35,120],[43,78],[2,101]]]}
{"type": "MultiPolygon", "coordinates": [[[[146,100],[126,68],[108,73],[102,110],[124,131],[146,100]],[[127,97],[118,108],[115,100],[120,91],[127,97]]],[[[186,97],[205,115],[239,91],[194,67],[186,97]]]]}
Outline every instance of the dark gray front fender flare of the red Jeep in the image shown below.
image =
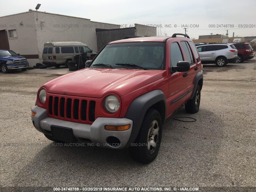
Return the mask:
{"type": "Polygon", "coordinates": [[[125,118],[133,120],[132,132],[125,148],[129,147],[136,140],[147,110],[158,102],[164,102],[164,109],[161,107],[164,113],[161,115],[162,123],[164,123],[166,117],[166,96],[162,90],[153,90],[132,101],[125,115],[125,118]]]}

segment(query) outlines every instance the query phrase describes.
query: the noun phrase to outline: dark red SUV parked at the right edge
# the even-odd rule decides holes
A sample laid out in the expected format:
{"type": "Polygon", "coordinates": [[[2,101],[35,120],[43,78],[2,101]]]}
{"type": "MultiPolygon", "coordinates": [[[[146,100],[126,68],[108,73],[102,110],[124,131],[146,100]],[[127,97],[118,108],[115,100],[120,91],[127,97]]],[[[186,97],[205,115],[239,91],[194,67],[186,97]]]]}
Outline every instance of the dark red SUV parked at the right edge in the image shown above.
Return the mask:
{"type": "Polygon", "coordinates": [[[238,60],[236,63],[242,63],[248,59],[254,58],[253,48],[250,43],[234,43],[234,46],[238,50],[238,60]]]}

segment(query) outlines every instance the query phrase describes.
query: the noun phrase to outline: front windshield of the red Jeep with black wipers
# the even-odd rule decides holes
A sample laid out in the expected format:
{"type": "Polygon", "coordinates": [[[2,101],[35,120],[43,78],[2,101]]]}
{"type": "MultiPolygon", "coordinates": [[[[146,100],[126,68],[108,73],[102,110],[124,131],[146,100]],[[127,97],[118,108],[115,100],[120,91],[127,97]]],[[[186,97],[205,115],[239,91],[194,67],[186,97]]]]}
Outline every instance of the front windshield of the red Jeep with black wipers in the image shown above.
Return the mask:
{"type": "Polygon", "coordinates": [[[90,68],[164,70],[164,43],[109,44],[100,52],[90,68]]]}

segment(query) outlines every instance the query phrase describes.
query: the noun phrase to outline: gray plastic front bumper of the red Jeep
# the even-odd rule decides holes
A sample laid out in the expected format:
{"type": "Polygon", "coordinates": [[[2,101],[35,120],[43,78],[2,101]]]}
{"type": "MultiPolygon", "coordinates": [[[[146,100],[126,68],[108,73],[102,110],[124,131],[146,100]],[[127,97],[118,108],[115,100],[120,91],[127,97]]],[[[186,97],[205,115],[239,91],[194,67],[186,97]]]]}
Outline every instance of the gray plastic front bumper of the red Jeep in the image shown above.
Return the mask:
{"type": "Polygon", "coordinates": [[[61,126],[65,128],[72,128],[74,137],[80,141],[90,140],[94,146],[111,149],[122,149],[128,143],[132,132],[133,121],[127,118],[97,118],[92,125],[81,124],[75,122],[68,122],[64,120],[54,119],[48,117],[47,110],[34,106],[32,112],[36,113],[31,116],[35,128],[51,136],[51,126],[61,126]],[[125,131],[109,131],[105,129],[105,125],[127,125],[130,124],[130,129],[125,131]],[[120,144],[109,144],[107,139],[109,137],[118,138],[120,144]]]}

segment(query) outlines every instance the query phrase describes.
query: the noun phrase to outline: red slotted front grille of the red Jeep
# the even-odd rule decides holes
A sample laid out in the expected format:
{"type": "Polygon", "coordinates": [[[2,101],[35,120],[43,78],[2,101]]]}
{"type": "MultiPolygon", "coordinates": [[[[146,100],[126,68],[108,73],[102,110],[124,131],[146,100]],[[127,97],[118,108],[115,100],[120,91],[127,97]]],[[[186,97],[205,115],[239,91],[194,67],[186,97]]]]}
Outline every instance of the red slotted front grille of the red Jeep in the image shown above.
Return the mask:
{"type": "Polygon", "coordinates": [[[48,115],[77,122],[94,122],[96,102],[68,96],[49,96],[48,115]]]}

